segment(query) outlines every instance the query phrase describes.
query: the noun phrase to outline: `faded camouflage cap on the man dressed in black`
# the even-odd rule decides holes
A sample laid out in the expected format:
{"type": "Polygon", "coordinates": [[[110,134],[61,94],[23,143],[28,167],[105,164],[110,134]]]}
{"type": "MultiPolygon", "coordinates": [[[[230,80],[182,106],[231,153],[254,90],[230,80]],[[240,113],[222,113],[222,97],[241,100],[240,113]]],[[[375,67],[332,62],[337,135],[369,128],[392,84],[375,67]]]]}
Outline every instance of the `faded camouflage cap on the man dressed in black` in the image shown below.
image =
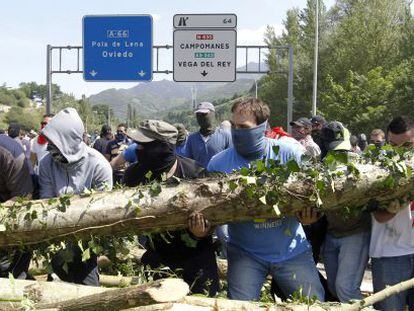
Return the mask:
{"type": "Polygon", "coordinates": [[[127,130],[127,136],[139,143],[159,140],[175,145],[177,134],[178,131],[174,126],[161,120],[145,120],[139,124],[137,129],[127,130]]]}

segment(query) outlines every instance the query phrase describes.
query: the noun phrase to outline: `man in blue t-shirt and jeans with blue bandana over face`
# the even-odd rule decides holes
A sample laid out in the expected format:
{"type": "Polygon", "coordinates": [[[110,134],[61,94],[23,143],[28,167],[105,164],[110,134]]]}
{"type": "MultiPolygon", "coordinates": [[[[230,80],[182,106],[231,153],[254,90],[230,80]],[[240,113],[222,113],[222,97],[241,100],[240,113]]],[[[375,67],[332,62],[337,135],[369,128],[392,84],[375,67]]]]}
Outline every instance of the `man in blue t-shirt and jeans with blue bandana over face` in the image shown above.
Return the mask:
{"type": "MultiPolygon", "coordinates": [[[[290,140],[265,137],[269,107],[257,99],[232,107],[234,147],[215,155],[210,172],[231,173],[257,159],[300,162],[304,149],[290,140]],[[273,147],[279,146],[278,154],[273,147]]],[[[228,225],[229,298],[258,300],[263,282],[272,275],[286,297],[294,292],[324,300],[324,290],[302,225],[295,217],[255,220],[228,225]]]]}

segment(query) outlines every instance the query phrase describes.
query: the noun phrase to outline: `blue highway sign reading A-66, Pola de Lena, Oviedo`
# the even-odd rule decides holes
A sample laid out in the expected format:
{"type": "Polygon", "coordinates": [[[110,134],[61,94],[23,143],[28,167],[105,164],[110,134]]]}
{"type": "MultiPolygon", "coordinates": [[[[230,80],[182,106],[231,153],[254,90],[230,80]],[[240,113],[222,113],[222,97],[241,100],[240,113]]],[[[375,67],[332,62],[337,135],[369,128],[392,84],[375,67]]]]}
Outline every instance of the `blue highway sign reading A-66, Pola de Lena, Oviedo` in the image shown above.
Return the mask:
{"type": "Polygon", "coordinates": [[[83,17],[85,81],[152,80],[151,15],[83,17]]]}

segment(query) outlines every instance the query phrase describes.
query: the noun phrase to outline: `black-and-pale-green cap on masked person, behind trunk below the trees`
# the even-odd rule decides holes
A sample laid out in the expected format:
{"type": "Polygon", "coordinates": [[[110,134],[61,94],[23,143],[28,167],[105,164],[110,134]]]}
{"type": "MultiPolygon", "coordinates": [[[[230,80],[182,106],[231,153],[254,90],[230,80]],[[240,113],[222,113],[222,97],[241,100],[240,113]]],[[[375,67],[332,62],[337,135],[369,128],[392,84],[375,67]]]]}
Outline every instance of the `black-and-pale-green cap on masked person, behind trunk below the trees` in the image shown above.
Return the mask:
{"type": "Polygon", "coordinates": [[[351,150],[351,135],[339,121],[329,122],[323,129],[322,141],[328,144],[329,150],[351,150]]]}

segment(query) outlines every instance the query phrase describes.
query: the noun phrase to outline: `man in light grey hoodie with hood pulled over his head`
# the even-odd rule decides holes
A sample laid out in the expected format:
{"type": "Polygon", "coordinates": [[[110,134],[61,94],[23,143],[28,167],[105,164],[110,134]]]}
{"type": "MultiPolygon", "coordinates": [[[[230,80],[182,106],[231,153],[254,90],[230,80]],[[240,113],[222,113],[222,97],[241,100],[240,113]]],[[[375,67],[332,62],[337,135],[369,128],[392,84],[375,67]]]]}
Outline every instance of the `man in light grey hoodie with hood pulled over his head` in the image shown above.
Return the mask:
{"type": "MultiPolygon", "coordinates": [[[[111,166],[102,154],[84,143],[84,132],[83,122],[73,108],[61,110],[42,130],[48,141],[49,153],[39,165],[40,198],[81,194],[91,189],[112,189],[111,166]]],[[[65,260],[67,256],[60,251],[52,259],[53,270],[59,278],[66,282],[98,286],[96,255],[91,254],[90,259],[82,262],[78,246],[69,244],[67,249],[72,251],[72,258],[65,260]]]]}

